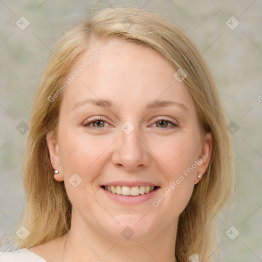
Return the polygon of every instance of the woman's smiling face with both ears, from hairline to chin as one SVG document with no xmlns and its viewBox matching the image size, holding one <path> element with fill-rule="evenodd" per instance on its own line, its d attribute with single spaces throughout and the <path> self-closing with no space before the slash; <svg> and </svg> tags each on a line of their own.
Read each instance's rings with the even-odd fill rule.
<svg viewBox="0 0 262 262">
<path fill-rule="evenodd" d="M 176 230 L 208 166 L 211 135 L 201 142 L 193 99 L 175 72 L 156 51 L 118 38 L 76 62 L 57 140 L 48 136 L 72 228 L 117 239 Z"/>
</svg>

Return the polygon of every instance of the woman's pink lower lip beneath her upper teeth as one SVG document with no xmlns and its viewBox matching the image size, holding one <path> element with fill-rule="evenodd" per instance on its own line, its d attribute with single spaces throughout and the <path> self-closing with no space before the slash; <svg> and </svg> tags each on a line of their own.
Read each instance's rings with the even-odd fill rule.
<svg viewBox="0 0 262 262">
<path fill-rule="evenodd" d="M 154 197 L 154 195 L 157 193 L 157 191 L 160 189 L 160 187 L 158 187 L 157 189 L 149 192 L 149 193 L 144 193 L 144 194 L 140 194 L 137 196 L 132 196 L 132 195 L 121 195 L 121 194 L 113 194 L 107 190 L 105 190 L 103 187 L 101 187 L 101 189 L 104 191 L 104 193 L 111 199 L 113 199 L 114 201 L 121 203 L 121 204 L 126 204 L 126 205 L 136 205 L 136 204 L 140 204 L 143 203 L 149 199 L 151 199 L 152 197 Z"/>
</svg>

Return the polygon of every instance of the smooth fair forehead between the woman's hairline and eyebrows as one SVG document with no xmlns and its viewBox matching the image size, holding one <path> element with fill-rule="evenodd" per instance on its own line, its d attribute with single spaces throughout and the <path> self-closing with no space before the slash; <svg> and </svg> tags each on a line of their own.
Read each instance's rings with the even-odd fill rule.
<svg viewBox="0 0 262 262">
<path fill-rule="evenodd" d="M 155 50 L 132 41 L 112 38 L 97 43 L 76 61 L 69 77 L 76 72 L 63 94 L 62 103 L 70 108 L 93 98 L 129 108 L 170 98 L 193 106 L 187 88 L 173 77 L 176 70 Z"/>
</svg>

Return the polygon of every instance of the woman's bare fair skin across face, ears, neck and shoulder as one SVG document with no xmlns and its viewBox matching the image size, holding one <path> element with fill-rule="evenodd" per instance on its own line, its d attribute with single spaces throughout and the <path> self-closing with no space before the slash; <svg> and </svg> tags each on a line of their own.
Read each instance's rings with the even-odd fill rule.
<svg viewBox="0 0 262 262">
<path fill-rule="evenodd" d="M 176 72 L 156 51 L 118 38 L 85 52 L 72 68 L 101 50 L 84 72 L 63 92 L 57 138 L 47 142 L 57 181 L 64 181 L 73 205 L 69 238 L 56 239 L 30 251 L 47 261 L 176 261 L 174 249 L 179 214 L 186 207 L 198 173 L 204 174 L 211 153 L 211 134 L 204 142 L 192 97 Z M 85 99 L 108 99 L 109 109 L 85 103 Z M 184 104 L 145 110 L 149 101 L 172 100 Z M 105 118 L 83 126 L 91 117 Z M 156 117 L 173 120 L 179 126 Z M 134 130 L 126 135 L 121 126 L 129 121 Z M 164 120 L 163 120 L 164 121 Z M 100 127 L 101 126 L 101 127 Z M 99 129 L 100 128 L 100 129 Z M 206 156 L 189 176 L 159 204 L 152 205 L 191 167 Z M 69 182 L 77 173 L 82 182 Z M 150 181 L 160 186 L 153 199 L 137 205 L 114 202 L 100 186 L 115 180 Z M 125 239 L 121 231 L 134 231 Z"/>
</svg>

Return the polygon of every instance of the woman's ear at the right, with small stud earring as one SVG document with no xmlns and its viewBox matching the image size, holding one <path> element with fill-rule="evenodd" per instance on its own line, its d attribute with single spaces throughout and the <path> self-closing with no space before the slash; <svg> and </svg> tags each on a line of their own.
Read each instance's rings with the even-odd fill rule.
<svg viewBox="0 0 262 262">
<path fill-rule="evenodd" d="M 197 168 L 197 173 L 195 173 L 195 178 L 194 178 L 194 183 L 198 184 L 199 181 L 202 179 L 202 177 L 204 176 L 204 173 L 207 170 L 209 161 L 210 161 L 210 157 L 211 157 L 211 152 L 212 152 L 212 133 L 206 133 L 205 134 L 205 140 L 204 143 L 202 145 L 202 152 L 201 152 L 201 156 L 199 158 L 199 165 Z M 202 160 L 202 161 L 200 161 Z M 198 178 L 198 174 L 201 174 L 200 179 Z"/>
</svg>

